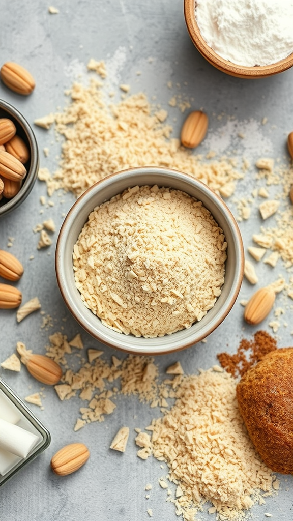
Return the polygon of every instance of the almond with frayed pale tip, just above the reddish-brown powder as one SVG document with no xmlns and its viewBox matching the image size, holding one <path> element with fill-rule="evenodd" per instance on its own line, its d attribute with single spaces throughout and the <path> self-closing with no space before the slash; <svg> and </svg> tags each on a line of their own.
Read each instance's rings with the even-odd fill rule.
<svg viewBox="0 0 293 521">
<path fill-rule="evenodd" d="M 260 288 L 255 292 L 245 306 L 244 319 L 248 324 L 260 324 L 270 313 L 274 302 L 275 292 L 272 288 Z"/>
</svg>

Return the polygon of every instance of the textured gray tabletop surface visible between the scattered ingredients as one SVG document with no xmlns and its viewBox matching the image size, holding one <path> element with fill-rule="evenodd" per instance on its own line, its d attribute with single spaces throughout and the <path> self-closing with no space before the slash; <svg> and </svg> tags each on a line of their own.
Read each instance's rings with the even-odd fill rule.
<svg viewBox="0 0 293 521">
<path fill-rule="evenodd" d="M 108 82 L 118 91 L 119 83 L 129 83 L 131 92 L 143 90 L 156 96 L 162 107 L 168 107 L 173 93 L 193 97 L 192 108 L 203 107 L 210 116 L 209 133 L 199 152 L 206 152 L 217 144 L 218 152 L 226 154 L 234 151 L 242 153 L 253 161 L 260 156 L 280 157 L 288 162 L 286 152 L 287 133 L 293 130 L 293 69 L 282 75 L 263 80 L 236 79 L 224 75 L 207 64 L 193 47 L 184 21 L 181 0 L 64 0 L 56 2 L 58 15 L 48 14 L 49 2 L 43 0 L 1 0 L 1 64 L 7 60 L 26 66 L 36 80 L 36 88 L 29 97 L 21 97 L 0 86 L 0 96 L 18 108 L 30 123 L 56 111 L 66 103 L 64 90 L 69 88 L 78 74 L 85 73 L 85 65 L 90 58 L 105 60 L 109 66 Z M 152 57 L 153 60 L 149 60 Z M 141 76 L 136 72 L 140 70 Z M 175 85 L 171 92 L 167 82 Z M 180 89 L 176 88 L 180 84 Z M 176 90 L 177 89 L 177 90 Z M 174 135 L 178 134 L 185 117 L 175 109 L 170 116 L 177 117 Z M 223 113 L 222 119 L 217 116 Z M 235 117 L 237 123 L 228 122 L 228 116 Z M 262 119 L 267 124 L 262 126 Z M 249 129 L 255 123 L 255 139 L 243 150 L 245 143 L 237 140 L 241 128 Z M 173 120 L 172 120 L 173 123 Z M 242 126 L 242 127 L 241 127 Z M 35 128 L 39 143 L 41 166 L 52 171 L 57 167 L 60 143 L 55 143 L 54 131 Z M 222 137 L 221 137 L 222 136 Z M 216 137 L 216 138 L 215 138 Z M 216 141 L 215 141 L 216 139 Z M 244 141 L 244 140 L 243 140 Z M 50 148 L 50 156 L 45 158 L 43 148 Z M 242 147 L 242 148 L 241 148 Z M 247 173 L 246 180 L 239 182 L 238 196 L 248 196 L 254 187 L 254 175 Z M 278 190 L 278 187 L 271 189 Z M 61 330 L 68 339 L 81 332 L 86 348 L 102 348 L 86 333 L 80 331 L 76 322 L 62 301 L 56 285 L 54 271 L 54 244 L 48 250 L 37 251 L 38 235 L 32 229 L 46 218 L 52 217 L 57 228 L 63 216 L 74 202 L 70 194 L 64 197 L 54 195 L 55 206 L 45 208 L 40 215 L 39 197 L 46 197 L 44 183 L 36 182 L 35 187 L 19 209 L 1 219 L 0 247 L 6 249 L 8 238 L 14 238 L 9 251 L 21 258 L 25 265 L 19 288 L 23 301 L 38 296 L 45 314 L 53 317 L 54 325 L 41 328 L 42 319 L 34 314 L 17 325 L 14 311 L 1 311 L 0 358 L 9 356 L 21 340 L 34 352 L 44 352 L 48 335 Z M 233 211 L 233 201 L 228 201 Z M 236 210 L 235 210 L 236 211 Z M 251 234 L 260 226 L 258 213 L 240 224 L 245 246 L 251 245 Z M 34 260 L 29 257 L 34 255 Z M 273 281 L 282 272 L 279 267 L 272 272 L 263 265 L 258 268 L 260 285 Z M 244 281 L 239 299 L 251 294 L 249 284 Z M 278 332 L 279 347 L 291 344 L 291 313 L 289 309 L 282 318 L 289 323 Z M 64 321 L 65 319 L 65 321 Z M 268 319 L 262 328 L 271 332 Z M 242 322 L 242 308 L 236 303 L 225 322 L 214 332 L 206 343 L 179 353 L 157 358 L 161 374 L 164 369 L 180 360 L 188 373 L 196 373 L 199 367 L 208 368 L 216 362 L 216 353 L 227 349 L 237 350 L 242 336 L 251 338 L 258 328 L 251 328 Z M 104 349 L 105 357 L 111 358 L 114 351 Z M 116 353 L 117 354 L 117 353 Z M 121 356 L 118 353 L 118 356 Z M 41 386 L 23 368 L 20 374 L 1 369 L 1 376 L 22 397 L 37 392 Z M 153 519 L 170 521 L 177 519 L 174 506 L 165 501 L 166 493 L 157 479 L 166 475 L 160 462 L 149 458 L 143 462 L 136 456 L 133 428 L 145 427 L 159 411 L 150 410 L 137 399 L 119 398 L 113 415 L 104 423 L 94 423 L 74 433 L 80 402 L 78 398 L 60 402 L 54 389 L 46 387 L 43 399 L 44 410 L 31 406 L 35 414 L 51 431 L 52 443 L 37 460 L 22 470 L 0 490 L 0 518 L 2 521 L 78 521 L 84 519 L 148 519 L 147 508 L 152 508 Z M 127 452 L 124 455 L 109 450 L 117 429 L 128 425 L 131 429 Z M 91 458 L 86 466 L 65 479 L 58 478 L 50 470 L 50 460 L 54 452 L 63 444 L 72 441 L 86 443 Z M 281 488 L 276 498 L 268 498 L 262 508 L 254 507 L 254 518 L 265 519 L 264 513 L 273 519 L 287 521 L 292 517 L 292 477 L 279 476 Z M 144 498 L 144 486 L 153 483 L 150 499 Z M 200 519 L 214 516 L 200 514 Z"/>
</svg>

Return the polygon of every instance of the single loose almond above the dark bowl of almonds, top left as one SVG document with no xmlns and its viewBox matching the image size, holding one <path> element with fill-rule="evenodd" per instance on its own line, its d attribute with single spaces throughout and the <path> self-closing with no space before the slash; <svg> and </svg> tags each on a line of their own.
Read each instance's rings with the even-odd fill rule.
<svg viewBox="0 0 293 521">
<path fill-rule="evenodd" d="M 27 96 L 34 87 L 35 81 L 27 69 L 14 61 L 7 61 L 0 69 L 3 83 L 12 91 Z"/>
</svg>

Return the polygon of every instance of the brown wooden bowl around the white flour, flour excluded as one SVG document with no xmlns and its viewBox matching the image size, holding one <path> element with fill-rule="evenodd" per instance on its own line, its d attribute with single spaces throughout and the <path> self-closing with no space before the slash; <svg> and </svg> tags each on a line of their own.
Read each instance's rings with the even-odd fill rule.
<svg viewBox="0 0 293 521">
<path fill-rule="evenodd" d="M 201 55 L 217 69 L 226 72 L 226 74 L 230 76 L 236 76 L 237 78 L 266 78 L 283 72 L 293 66 L 293 53 L 274 64 L 255 67 L 237 65 L 222 58 L 215 53 L 203 39 L 194 14 L 195 6 L 196 0 L 184 0 L 184 16 L 187 30 L 193 44 L 197 47 Z"/>
</svg>

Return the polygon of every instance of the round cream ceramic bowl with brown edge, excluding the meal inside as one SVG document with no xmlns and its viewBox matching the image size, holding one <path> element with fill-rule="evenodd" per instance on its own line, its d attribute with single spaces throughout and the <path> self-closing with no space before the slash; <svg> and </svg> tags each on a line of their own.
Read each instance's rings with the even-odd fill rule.
<svg viewBox="0 0 293 521">
<path fill-rule="evenodd" d="M 225 282 L 214 307 L 201 321 L 189 329 L 177 331 L 160 338 L 143 338 L 116 332 L 104 326 L 82 302 L 75 285 L 72 252 L 83 225 L 91 211 L 114 195 L 136 185 L 169 187 L 195 197 L 210 210 L 223 229 L 227 241 Z M 243 277 L 243 245 L 233 214 L 224 201 L 206 184 L 193 177 L 167 168 L 141 167 L 115 173 L 95 183 L 69 210 L 60 229 L 55 256 L 56 276 L 63 299 L 79 324 L 96 340 L 128 353 L 165 354 L 185 349 L 207 337 L 221 324 L 235 303 Z"/>
</svg>

